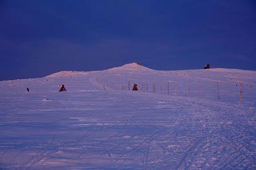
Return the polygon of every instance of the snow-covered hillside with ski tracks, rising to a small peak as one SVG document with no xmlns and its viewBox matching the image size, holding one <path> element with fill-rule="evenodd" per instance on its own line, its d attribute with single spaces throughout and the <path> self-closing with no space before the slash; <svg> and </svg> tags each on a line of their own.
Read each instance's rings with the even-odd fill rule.
<svg viewBox="0 0 256 170">
<path fill-rule="evenodd" d="M 0 169 L 255 169 L 255 77 L 134 62 L 1 81 Z"/>
</svg>

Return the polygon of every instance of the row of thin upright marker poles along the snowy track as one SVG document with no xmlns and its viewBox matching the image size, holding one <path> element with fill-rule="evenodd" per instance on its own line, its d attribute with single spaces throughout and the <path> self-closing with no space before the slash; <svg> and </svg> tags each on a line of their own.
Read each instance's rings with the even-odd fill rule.
<svg viewBox="0 0 256 170">
<path fill-rule="evenodd" d="M 169 91 L 169 81 L 167 82 L 167 95 L 170 94 L 170 91 Z M 122 86 L 122 90 L 125 90 L 124 88 L 125 86 Z M 202 99 L 202 84 L 200 83 L 199 84 L 199 89 L 200 89 L 200 98 Z M 146 85 L 145 84 L 142 84 L 142 88 L 141 88 L 142 91 L 147 91 L 148 92 L 148 86 L 147 86 L 147 83 Z M 178 86 L 176 85 L 176 88 L 175 88 L 175 91 L 178 90 Z M 130 82 L 128 82 L 128 91 L 130 91 Z M 153 85 L 152 85 L 152 92 L 153 93 L 156 93 L 156 84 L 155 82 L 153 82 Z M 160 93 L 162 93 L 162 83 L 160 84 Z M 219 90 L 219 82 L 217 81 L 217 93 L 218 93 L 218 100 L 220 102 L 220 90 Z M 176 94 L 176 93 L 175 93 Z M 187 93 L 186 93 L 186 97 L 189 96 L 189 83 L 187 83 Z M 242 103 L 242 82 L 240 82 L 240 103 Z"/>
</svg>

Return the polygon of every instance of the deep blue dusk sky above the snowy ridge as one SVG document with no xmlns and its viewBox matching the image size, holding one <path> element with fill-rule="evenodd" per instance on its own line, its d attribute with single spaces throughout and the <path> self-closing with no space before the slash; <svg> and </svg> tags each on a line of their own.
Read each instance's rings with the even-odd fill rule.
<svg viewBox="0 0 256 170">
<path fill-rule="evenodd" d="M 130 62 L 256 70 L 254 0 L 0 0 L 0 80 Z"/>
</svg>

